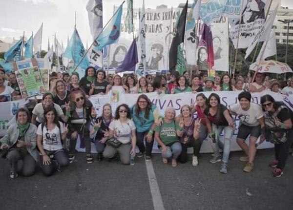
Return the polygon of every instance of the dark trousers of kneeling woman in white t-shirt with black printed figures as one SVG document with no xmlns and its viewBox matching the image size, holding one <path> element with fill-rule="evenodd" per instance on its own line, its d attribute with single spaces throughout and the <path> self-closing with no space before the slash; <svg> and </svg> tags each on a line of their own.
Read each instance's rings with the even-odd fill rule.
<svg viewBox="0 0 293 210">
<path fill-rule="evenodd" d="M 46 153 L 50 153 L 50 152 L 46 152 Z M 51 154 L 53 154 L 53 157 L 56 160 L 58 166 L 60 166 L 60 167 L 68 166 L 69 160 L 68 160 L 63 149 L 53 151 L 53 153 L 51 153 Z M 49 156 L 51 156 L 51 155 L 49 155 Z M 54 168 L 55 168 L 54 164 L 52 163 L 52 160 L 49 165 L 43 165 L 43 156 L 41 155 L 40 157 L 41 157 L 41 159 L 40 159 L 41 169 L 42 169 L 43 174 L 45 176 L 51 176 L 53 174 Z"/>
</svg>

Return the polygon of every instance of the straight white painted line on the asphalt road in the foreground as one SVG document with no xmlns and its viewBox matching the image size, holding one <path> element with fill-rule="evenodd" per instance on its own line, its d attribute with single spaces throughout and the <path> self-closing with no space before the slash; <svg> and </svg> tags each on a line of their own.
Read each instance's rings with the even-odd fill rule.
<svg viewBox="0 0 293 210">
<path fill-rule="evenodd" d="M 146 171 L 154 210 L 165 210 L 152 161 L 146 161 Z"/>
</svg>

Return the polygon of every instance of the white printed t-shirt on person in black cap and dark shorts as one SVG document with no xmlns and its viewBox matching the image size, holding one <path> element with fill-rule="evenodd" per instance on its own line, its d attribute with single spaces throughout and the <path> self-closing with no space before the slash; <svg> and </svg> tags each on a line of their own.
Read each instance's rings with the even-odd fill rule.
<svg viewBox="0 0 293 210">
<path fill-rule="evenodd" d="M 235 112 L 238 115 L 239 120 L 246 126 L 258 126 L 258 120 L 264 116 L 261 107 L 253 103 L 251 103 L 248 110 L 243 110 L 239 103 L 230 106 L 230 110 Z"/>
</svg>

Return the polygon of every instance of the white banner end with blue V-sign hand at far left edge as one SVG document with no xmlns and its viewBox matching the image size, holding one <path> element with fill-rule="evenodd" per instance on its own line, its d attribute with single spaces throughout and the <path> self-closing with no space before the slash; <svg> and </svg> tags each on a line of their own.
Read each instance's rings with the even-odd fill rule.
<svg viewBox="0 0 293 210">
<path fill-rule="evenodd" d="M 4 136 L 8 126 L 15 122 L 15 114 L 17 110 L 28 103 L 27 100 L 21 99 L 17 101 L 1 102 L 0 114 L 0 136 Z"/>
</svg>

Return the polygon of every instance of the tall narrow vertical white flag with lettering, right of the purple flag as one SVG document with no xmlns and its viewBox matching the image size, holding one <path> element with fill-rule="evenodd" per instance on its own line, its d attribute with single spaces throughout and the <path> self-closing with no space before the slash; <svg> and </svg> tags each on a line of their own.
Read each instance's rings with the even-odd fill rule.
<svg viewBox="0 0 293 210">
<path fill-rule="evenodd" d="M 138 64 L 138 73 L 146 75 L 146 10 L 145 10 L 145 0 L 143 0 L 143 7 L 141 11 L 140 21 L 139 21 L 139 40 L 140 40 L 140 62 Z"/>
</svg>

